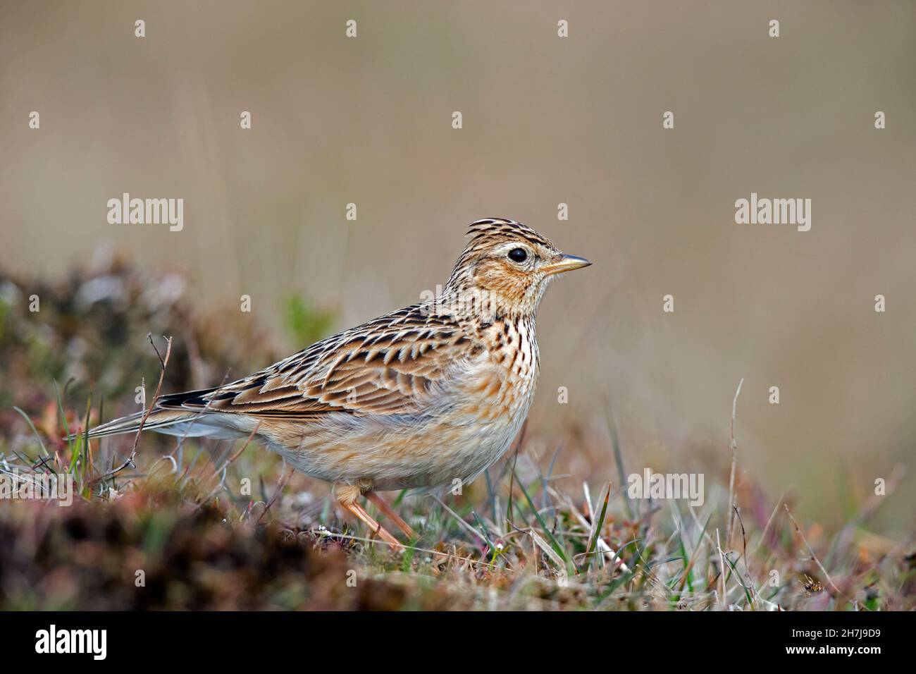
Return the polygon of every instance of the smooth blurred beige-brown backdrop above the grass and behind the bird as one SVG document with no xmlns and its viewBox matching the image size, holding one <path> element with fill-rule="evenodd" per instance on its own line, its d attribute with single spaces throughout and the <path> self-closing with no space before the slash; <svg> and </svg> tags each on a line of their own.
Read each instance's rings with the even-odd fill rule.
<svg viewBox="0 0 916 674">
<path fill-rule="evenodd" d="M 594 261 L 539 317 L 530 441 L 547 459 L 562 443 L 570 480 L 616 479 L 609 425 L 627 472 L 727 479 L 742 377 L 740 475 L 804 515 L 843 521 L 914 457 L 912 2 L 0 7 L 5 274 L 115 256 L 231 315 L 224 341 L 255 332 L 282 356 L 311 337 L 285 313 L 317 314 L 317 338 L 417 302 L 468 223 L 505 216 Z M 109 224 L 125 192 L 183 198 L 182 231 Z M 811 231 L 736 225 L 752 192 L 812 199 Z M 170 327 L 152 316 L 118 338 L 148 348 Z M 237 348 L 234 374 L 261 358 Z M 910 470 L 882 510 L 889 532 L 911 530 L 914 486 Z"/>
</svg>

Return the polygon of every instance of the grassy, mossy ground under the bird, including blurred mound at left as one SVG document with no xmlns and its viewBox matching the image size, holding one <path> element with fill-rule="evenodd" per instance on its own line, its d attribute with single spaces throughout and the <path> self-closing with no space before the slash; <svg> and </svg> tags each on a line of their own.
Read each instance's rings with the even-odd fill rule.
<svg viewBox="0 0 916 674">
<path fill-rule="evenodd" d="M 109 273 L 127 288 L 136 281 L 127 268 Z M 609 412 L 611 483 L 558 474 L 562 444 L 538 456 L 532 447 L 546 445 L 531 440 L 547 438 L 532 434 L 545 432 L 523 431 L 507 458 L 462 494 L 397 495 L 395 507 L 420 533 L 404 553 L 344 519 L 327 485 L 254 443 L 145 434 L 134 456 L 133 436 L 87 442 L 86 429 L 107 410 L 136 411 L 129 402 L 136 370 L 157 381 L 160 364 L 148 343 L 142 353 L 138 344 L 120 353 L 122 370 L 109 370 L 116 351 L 96 361 L 103 372 L 121 372 L 104 386 L 114 402 L 79 381 L 57 387 L 72 364 L 57 367 L 35 354 L 54 352 L 67 329 L 90 343 L 111 329 L 89 318 L 73 325 L 80 316 L 66 307 L 79 285 L 49 289 L 40 320 L 17 314 L 21 304 L 0 311 L 0 345 L 12 357 L 5 385 L 18 387 L 0 394 L 26 404 L 0 416 L 0 477 L 21 483 L 63 474 L 74 492 L 71 507 L 0 501 L 0 539 L 16 541 L 0 548 L 0 609 L 916 608 L 913 539 L 893 541 L 869 528 L 882 500 L 851 503 L 851 516 L 834 531 L 799 521 L 790 496 L 770 499 L 741 473 L 734 436 L 728 448 L 738 470 L 724 451 L 723 465 L 707 470 L 705 503 L 692 507 L 627 496 Z M 135 334 L 151 319 L 138 299 L 126 302 L 101 310 Z M 296 330 L 328 320 L 312 320 L 306 307 L 296 303 Z M 213 348 L 208 359 L 233 360 L 207 335 L 207 319 L 180 304 L 158 321 L 188 322 L 183 333 Z M 43 337 L 39 323 L 49 327 Z M 189 386 L 198 367 L 199 349 L 180 341 L 188 340 L 176 337 L 171 359 L 163 358 L 169 390 Z M 71 440 L 60 439 L 71 432 Z"/>
</svg>

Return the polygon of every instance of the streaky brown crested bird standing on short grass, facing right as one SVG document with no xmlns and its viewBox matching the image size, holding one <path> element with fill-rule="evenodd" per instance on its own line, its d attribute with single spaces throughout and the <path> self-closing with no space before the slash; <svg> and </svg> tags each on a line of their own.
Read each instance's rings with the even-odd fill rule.
<svg viewBox="0 0 916 674">
<path fill-rule="evenodd" d="M 538 382 L 541 298 L 559 275 L 591 264 L 506 218 L 477 220 L 466 237 L 437 296 L 242 379 L 160 395 L 151 410 L 88 436 L 252 437 L 294 469 L 330 482 L 344 510 L 403 549 L 360 496 L 416 540 L 376 492 L 467 484 L 507 452 Z"/>
</svg>

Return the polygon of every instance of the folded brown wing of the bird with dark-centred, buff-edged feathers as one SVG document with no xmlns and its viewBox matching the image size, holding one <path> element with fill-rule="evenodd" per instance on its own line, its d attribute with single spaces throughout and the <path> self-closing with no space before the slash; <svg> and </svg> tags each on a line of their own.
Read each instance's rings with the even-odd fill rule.
<svg viewBox="0 0 916 674">
<path fill-rule="evenodd" d="M 293 419 L 417 414 L 481 350 L 451 316 L 424 307 L 376 318 L 224 386 L 162 396 L 159 406 Z"/>
</svg>

